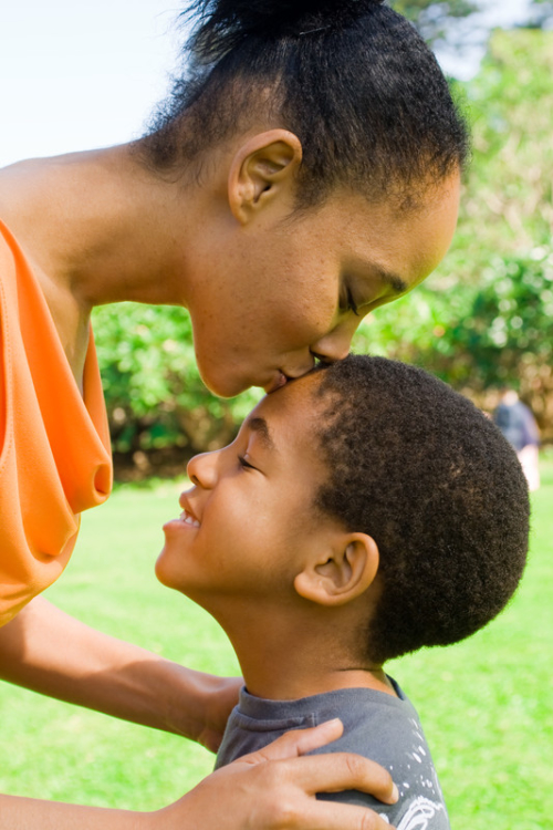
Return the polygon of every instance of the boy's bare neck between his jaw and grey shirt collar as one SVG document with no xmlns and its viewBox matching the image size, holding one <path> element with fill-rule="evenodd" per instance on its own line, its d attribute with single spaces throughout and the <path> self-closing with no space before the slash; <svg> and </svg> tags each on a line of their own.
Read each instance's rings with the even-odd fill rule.
<svg viewBox="0 0 553 830">
<path fill-rule="evenodd" d="M 337 631 L 351 631 L 344 619 L 328 631 L 322 614 L 305 619 L 282 614 L 274 609 L 264 619 L 223 625 L 232 642 L 248 692 L 272 701 L 334 692 L 340 688 L 372 688 L 396 693 L 382 666 L 349 655 Z M 301 616 L 301 615 L 300 615 Z M 309 618 L 309 619 L 307 619 Z"/>
</svg>

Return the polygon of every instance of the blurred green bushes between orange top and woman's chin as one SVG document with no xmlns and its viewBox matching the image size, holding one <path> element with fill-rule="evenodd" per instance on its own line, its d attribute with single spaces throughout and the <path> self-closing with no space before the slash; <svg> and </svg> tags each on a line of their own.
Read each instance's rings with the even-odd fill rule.
<svg viewBox="0 0 553 830">
<path fill-rule="evenodd" d="M 115 452 L 219 447 L 260 397 L 255 390 L 231 401 L 208 392 L 184 309 L 104 305 L 94 311 L 94 331 Z"/>
</svg>

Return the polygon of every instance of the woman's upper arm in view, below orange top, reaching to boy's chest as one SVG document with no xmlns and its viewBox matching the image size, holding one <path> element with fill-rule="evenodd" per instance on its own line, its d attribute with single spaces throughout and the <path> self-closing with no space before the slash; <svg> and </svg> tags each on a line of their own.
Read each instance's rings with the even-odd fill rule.
<svg viewBox="0 0 553 830">
<path fill-rule="evenodd" d="M 0 678 L 212 750 L 241 686 L 102 634 L 42 596 L 0 627 Z"/>
</svg>

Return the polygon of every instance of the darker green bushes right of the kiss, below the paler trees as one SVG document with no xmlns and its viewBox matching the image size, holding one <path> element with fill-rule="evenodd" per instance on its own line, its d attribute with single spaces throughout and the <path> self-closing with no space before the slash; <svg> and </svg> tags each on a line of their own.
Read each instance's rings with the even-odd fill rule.
<svg viewBox="0 0 553 830">
<path fill-rule="evenodd" d="M 416 363 L 491 409 L 511 386 L 553 439 L 553 249 L 490 259 L 463 290 L 417 289 L 372 315 L 355 350 Z"/>
</svg>

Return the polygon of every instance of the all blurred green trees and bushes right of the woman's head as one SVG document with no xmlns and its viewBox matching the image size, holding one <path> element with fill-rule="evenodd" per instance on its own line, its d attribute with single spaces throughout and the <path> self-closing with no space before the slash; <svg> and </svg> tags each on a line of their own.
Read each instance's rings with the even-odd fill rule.
<svg viewBox="0 0 553 830">
<path fill-rule="evenodd" d="M 446 261 L 362 325 L 357 351 L 435 372 L 479 405 L 511 385 L 553 439 L 553 33 L 493 33 L 457 92 L 473 158 Z"/>
</svg>

